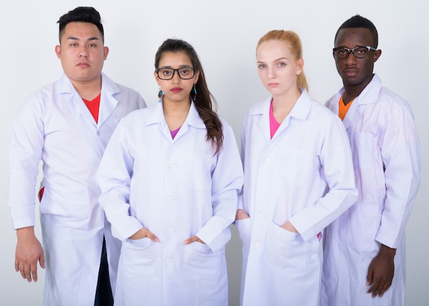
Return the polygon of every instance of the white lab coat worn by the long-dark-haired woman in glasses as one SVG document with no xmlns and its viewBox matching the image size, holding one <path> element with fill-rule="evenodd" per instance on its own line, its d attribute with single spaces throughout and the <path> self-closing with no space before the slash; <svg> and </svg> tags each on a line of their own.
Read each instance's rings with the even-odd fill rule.
<svg viewBox="0 0 429 306">
<path fill-rule="evenodd" d="M 174 139 L 162 103 L 126 116 L 97 179 L 100 203 L 123 240 L 116 305 L 228 305 L 225 244 L 243 185 L 238 146 L 224 120 L 214 155 L 191 103 Z M 145 227 L 149 238 L 128 239 Z M 184 240 L 197 235 L 206 244 Z"/>
</svg>

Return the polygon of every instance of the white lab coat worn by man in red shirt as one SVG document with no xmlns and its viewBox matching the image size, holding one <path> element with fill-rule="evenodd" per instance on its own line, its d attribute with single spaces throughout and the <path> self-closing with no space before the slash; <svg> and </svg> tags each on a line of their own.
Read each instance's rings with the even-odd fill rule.
<svg viewBox="0 0 429 306">
<path fill-rule="evenodd" d="M 98 124 L 65 75 L 29 96 L 14 121 L 8 199 L 14 229 L 35 225 L 34 190 L 43 161 L 44 305 L 94 305 L 103 234 L 113 290 L 116 283 L 121 242 L 99 206 L 95 175 L 119 120 L 145 102 L 104 74 L 101 82 Z"/>
</svg>

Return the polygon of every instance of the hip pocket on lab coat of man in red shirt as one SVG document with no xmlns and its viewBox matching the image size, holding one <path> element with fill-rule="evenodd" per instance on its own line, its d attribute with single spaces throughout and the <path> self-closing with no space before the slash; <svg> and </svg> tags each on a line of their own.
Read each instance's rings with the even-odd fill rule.
<svg viewBox="0 0 429 306">
<path fill-rule="evenodd" d="M 40 201 L 44 222 L 60 222 L 74 228 L 87 228 L 91 218 L 88 188 L 52 188 L 45 186 Z"/>
</svg>

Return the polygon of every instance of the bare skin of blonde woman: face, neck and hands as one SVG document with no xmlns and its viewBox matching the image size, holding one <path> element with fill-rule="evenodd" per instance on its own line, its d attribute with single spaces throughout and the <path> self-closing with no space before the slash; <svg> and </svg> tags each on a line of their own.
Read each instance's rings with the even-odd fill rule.
<svg viewBox="0 0 429 306">
<path fill-rule="evenodd" d="M 273 95 L 274 118 L 281 123 L 301 95 L 297 76 L 302 73 L 304 60 L 295 58 L 285 42 L 268 40 L 256 49 L 256 62 L 262 84 Z M 236 220 L 245 218 L 249 218 L 249 214 L 238 209 Z M 298 232 L 289 221 L 281 227 L 287 231 Z"/>
</svg>

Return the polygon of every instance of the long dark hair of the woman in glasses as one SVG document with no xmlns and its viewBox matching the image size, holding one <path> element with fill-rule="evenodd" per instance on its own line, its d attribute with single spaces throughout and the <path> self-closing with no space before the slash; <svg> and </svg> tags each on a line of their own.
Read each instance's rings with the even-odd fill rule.
<svg viewBox="0 0 429 306">
<path fill-rule="evenodd" d="M 199 77 L 195 88 L 197 89 L 197 99 L 194 101 L 195 108 L 199 114 L 201 120 L 203 120 L 204 125 L 207 129 L 207 140 L 212 143 L 213 149 L 215 149 L 215 155 L 221 151 L 223 146 L 223 132 L 222 132 L 222 123 L 219 119 L 219 116 L 216 114 L 217 102 L 215 97 L 210 93 L 206 83 L 206 77 L 204 76 L 203 67 L 199 61 L 197 52 L 195 49 L 184 40 L 180 39 L 167 39 L 165 40 L 155 55 L 155 68 L 159 68 L 159 63 L 162 58 L 162 55 L 166 52 L 184 52 L 188 55 L 189 60 L 191 60 L 192 66 L 195 68 L 195 71 L 199 71 Z M 194 98 L 195 94 L 192 90 L 191 98 Z M 215 106 L 215 110 L 213 110 Z"/>
</svg>

